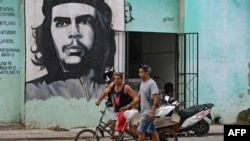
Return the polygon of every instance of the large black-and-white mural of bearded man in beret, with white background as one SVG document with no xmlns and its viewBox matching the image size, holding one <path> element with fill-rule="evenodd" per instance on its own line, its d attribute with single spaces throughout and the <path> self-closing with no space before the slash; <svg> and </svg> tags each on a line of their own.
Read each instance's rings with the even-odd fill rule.
<svg viewBox="0 0 250 141">
<path fill-rule="evenodd" d="M 99 96 L 105 88 L 103 74 L 114 69 L 116 53 L 114 15 L 107 3 L 116 4 L 25 1 L 26 101 Z"/>
</svg>

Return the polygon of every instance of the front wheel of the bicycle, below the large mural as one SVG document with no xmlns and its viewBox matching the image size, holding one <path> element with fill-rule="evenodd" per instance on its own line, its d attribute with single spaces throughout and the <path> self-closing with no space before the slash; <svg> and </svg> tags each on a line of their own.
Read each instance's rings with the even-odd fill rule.
<svg viewBox="0 0 250 141">
<path fill-rule="evenodd" d="M 83 129 L 76 134 L 75 141 L 99 141 L 99 137 L 95 131 Z"/>
</svg>

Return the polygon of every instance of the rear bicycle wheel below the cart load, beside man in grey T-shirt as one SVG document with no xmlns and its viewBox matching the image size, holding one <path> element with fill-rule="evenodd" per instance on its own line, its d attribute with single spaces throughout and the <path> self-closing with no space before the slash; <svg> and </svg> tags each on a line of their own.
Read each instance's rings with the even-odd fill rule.
<svg viewBox="0 0 250 141">
<path fill-rule="evenodd" d="M 174 130 L 170 128 L 164 128 L 157 131 L 160 137 L 160 141 L 178 141 L 178 137 Z"/>
</svg>

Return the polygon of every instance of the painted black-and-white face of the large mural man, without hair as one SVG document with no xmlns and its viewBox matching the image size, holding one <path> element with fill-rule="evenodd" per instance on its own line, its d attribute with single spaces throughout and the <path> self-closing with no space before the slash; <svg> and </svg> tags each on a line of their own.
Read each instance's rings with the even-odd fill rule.
<svg viewBox="0 0 250 141">
<path fill-rule="evenodd" d="M 51 33 L 57 57 L 63 64 L 78 64 L 93 47 L 94 7 L 80 3 L 64 3 L 53 7 Z"/>
</svg>

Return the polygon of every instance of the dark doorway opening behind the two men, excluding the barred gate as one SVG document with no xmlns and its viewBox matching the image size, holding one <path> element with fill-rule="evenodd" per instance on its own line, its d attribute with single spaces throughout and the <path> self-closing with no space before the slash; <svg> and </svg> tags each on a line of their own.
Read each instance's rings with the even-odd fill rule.
<svg viewBox="0 0 250 141">
<path fill-rule="evenodd" d="M 157 82 L 159 89 L 167 82 L 175 84 L 176 41 L 177 36 L 172 33 L 127 32 L 127 81 L 138 85 L 138 67 L 140 64 L 148 64 L 152 67 L 151 77 Z"/>
</svg>

